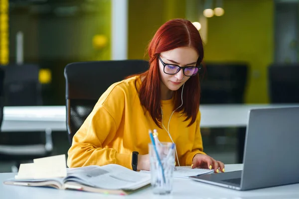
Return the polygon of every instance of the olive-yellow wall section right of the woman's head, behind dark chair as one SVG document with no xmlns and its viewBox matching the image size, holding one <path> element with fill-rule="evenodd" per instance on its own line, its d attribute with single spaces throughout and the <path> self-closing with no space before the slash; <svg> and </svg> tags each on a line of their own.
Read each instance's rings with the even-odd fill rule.
<svg viewBox="0 0 299 199">
<path fill-rule="evenodd" d="M 208 19 L 205 61 L 250 65 L 247 103 L 267 103 L 267 67 L 274 54 L 273 0 L 225 0 L 225 14 Z"/>
</svg>

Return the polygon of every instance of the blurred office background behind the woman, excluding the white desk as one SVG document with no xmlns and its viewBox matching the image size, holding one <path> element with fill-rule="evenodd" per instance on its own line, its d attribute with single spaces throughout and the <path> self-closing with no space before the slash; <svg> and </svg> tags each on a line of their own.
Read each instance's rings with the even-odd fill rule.
<svg viewBox="0 0 299 199">
<path fill-rule="evenodd" d="M 37 100 L 30 96 L 39 94 L 25 85 L 10 86 L 6 94 L 24 91 L 21 98 L 4 97 L 4 106 L 65 105 L 68 63 L 147 60 L 154 32 L 173 18 L 194 22 L 204 40 L 202 104 L 298 103 L 299 75 L 284 73 L 299 67 L 298 4 L 299 0 L 0 0 L 1 68 L 23 67 L 13 78 L 34 76 L 40 91 Z M 32 65 L 37 70 L 31 71 Z M 278 71 L 270 73 L 271 67 Z M 272 73 L 293 87 L 276 87 L 286 93 L 272 90 Z M 205 152 L 226 164 L 236 163 L 238 130 L 202 128 Z M 11 136 L 17 143 L 30 142 L 39 136 L 30 133 L 0 132 L 0 142 Z M 66 132 L 53 131 L 51 139 L 53 148 L 45 156 L 67 154 Z M 0 172 L 10 172 L 15 161 L 0 155 Z"/>
</svg>

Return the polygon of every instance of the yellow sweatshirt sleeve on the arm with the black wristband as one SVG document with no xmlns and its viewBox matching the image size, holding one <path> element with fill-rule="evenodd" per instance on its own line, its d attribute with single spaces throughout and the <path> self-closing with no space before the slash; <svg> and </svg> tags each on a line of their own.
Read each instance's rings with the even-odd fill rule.
<svg viewBox="0 0 299 199">
<path fill-rule="evenodd" d="M 117 95 L 103 94 L 102 99 L 100 98 L 74 135 L 72 146 L 68 151 L 68 167 L 118 164 L 132 169 L 132 154 L 118 153 L 115 149 L 107 147 L 115 139 L 121 119 L 115 119 L 104 104 L 113 106 L 113 111 L 119 110 L 120 115 L 124 110 L 124 98 L 121 92 L 114 91 L 114 93 Z M 105 102 L 107 100 L 109 103 Z"/>
</svg>

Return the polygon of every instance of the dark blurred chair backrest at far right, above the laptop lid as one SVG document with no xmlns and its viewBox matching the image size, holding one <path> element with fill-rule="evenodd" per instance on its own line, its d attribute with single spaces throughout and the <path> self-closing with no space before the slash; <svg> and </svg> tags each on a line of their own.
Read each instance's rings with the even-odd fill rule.
<svg viewBox="0 0 299 199">
<path fill-rule="evenodd" d="M 273 64 L 268 72 L 271 103 L 299 103 L 299 64 Z"/>
</svg>

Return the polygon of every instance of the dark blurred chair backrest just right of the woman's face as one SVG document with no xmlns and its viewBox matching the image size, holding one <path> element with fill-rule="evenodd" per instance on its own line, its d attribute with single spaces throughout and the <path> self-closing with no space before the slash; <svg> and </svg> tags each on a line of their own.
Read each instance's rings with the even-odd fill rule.
<svg viewBox="0 0 299 199">
<path fill-rule="evenodd" d="M 206 63 L 201 79 L 200 103 L 244 103 L 248 65 Z"/>
</svg>

